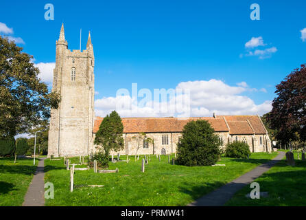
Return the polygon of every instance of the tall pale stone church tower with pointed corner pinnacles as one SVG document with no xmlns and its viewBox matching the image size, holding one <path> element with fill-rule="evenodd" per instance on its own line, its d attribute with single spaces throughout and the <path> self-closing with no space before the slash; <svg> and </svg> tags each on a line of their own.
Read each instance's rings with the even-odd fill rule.
<svg viewBox="0 0 306 220">
<path fill-rule="evenodd" d="M 93 151 L 95 57 L 91 34 L 86 50 L 69 50 L 64 25 L 56 41 L 56 67 L 52 91 L 61 102 L 51 109 L 48 157 L 89 155 Z"/>
</svg>

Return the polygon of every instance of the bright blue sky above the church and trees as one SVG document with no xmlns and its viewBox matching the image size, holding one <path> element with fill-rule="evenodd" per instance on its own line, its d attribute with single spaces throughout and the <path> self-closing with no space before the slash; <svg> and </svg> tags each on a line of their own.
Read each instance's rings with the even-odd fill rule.
<svg viewBox="0 0 306 220">
<path fill-rule="evenodd" d="M 46 3 L 54 5 L 54 21 L 44 19 Z M 252 3 L 260 5 L 260 21 L 250 19 Z M 71 50 L 80 47 L 80 28 L 85 49 L 90 30 L 95 51 L 95 90 L 99 93 L 95 99 L 102 115 L 106 109 L 101 104 L 115 97 L 120 88 L 130 90 L 132 83 L 153 90 L 176 88 L 188 81 L 205 84 L 209 80 L 243 87 L 231 98 L 243 96 L 242 102 L 252 100 L 252 106 L 258 108 L 226 111 L 216 105 L 209 107 L 210 101 L 205 100 L 198 109 L 208 109 L 207 114 L 262 114 L 268 107 L 259 106 L 273 100 L 275 85 L 306 63 L 306 41 L 301 39 L 301 30 L 306 28 L 305 6 L 300 0 L 2 0 L 0 22 L 12 32 L 0 34 L 21 38 L 23 43 L 19 45 L 34 56 L 35 63 L 54 63 L 62 22 Z M 246 47 L 252 38 L 259 43 Z"/>
</svg>

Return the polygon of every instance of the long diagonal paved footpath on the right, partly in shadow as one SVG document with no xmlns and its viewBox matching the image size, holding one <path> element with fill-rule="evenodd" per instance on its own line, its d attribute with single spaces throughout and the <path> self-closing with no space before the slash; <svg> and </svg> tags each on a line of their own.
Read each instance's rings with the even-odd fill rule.
<svg viewBox="0 0 306 220">
<path fill-rule="evenodd" d="M 266 164 L 261 164 L 257 166 L 257 168 L 251 170 L 250 172 L 242 175 L 241 177 L 231 181 L 230 183 L 218 188 L 217 190 L 204 195 L 200 199 L 193 201 L 187 206 L 224 206 L 226 201 L 231 199 L 233 195 L 243 188 L 247 186 L 252 181 L 260 177 L 263 173 L 268 171 L 272 166 L 274 166 L 277 162 L 281 161 L 285 157 L 285 152 L 280 152 L 279 155 L 271 159 Z"/>
</svg>

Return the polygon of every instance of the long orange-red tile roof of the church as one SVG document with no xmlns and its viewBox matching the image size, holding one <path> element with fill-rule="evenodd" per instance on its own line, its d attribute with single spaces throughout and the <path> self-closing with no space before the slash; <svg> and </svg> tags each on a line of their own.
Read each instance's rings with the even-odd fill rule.
<svg viewBox="0 0 306 220">
<path fill-rule="evenodd" d="M 102 120 L 103 118 L 96 118 L 93 133 L 97 133 Z M 191 120 L 207 120 L 215 131 L 229 131 L 232 135 L 266 133 L 257 115 L 217 115 L 216 118 L 121 118 L 121 120 L 123 133 L 182 132 L 185 124 Z"/>
</svg>

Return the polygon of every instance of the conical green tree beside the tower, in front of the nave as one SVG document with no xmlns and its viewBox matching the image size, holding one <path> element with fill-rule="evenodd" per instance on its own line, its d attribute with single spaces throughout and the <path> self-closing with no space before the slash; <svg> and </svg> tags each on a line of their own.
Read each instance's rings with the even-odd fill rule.
<svg viewBox="0 0 306 220">
<path fill-rule="evenodd" d="M 95 135 L 94 144 L 102 146 L 106 155 L 110 151 L 120 151 L 124 148 L 123 124 L 116 111 L 106 115 Z M 100 149 L 101 150 L 101 149 Z"/>
</svg>

